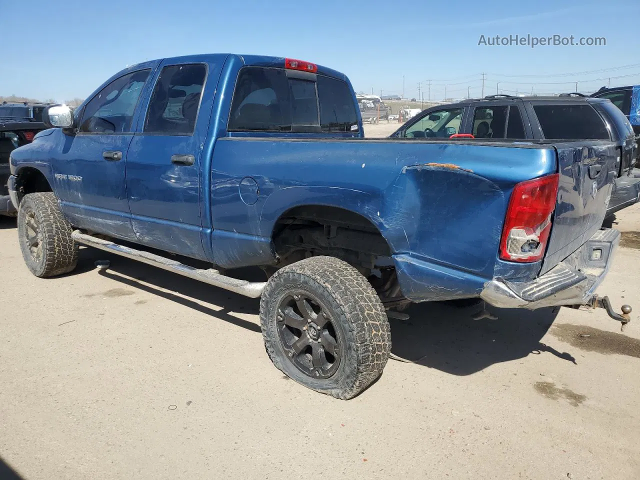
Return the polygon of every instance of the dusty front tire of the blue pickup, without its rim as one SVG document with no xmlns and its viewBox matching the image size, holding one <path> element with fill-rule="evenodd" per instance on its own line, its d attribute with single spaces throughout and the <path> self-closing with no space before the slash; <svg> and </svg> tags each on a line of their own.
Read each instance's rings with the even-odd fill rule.
<svg viewBox="0 0 640 480">
<path fill-rule="evenodd" d="M 20 250 L 31 273 L 45 278 L 73 271 L 77 265 L 79 248 L 71 237 L 73 228 L 60 211 L 54 193 L 29 193 L 22 198 L 18 212 L 19 234 L 20 226 L 24 223 L 26 207 L 31 207 L 40 216 L 44 241 L 44 262 L 38 265 L 31 259 L 26 241 L 20 236 Z"/>
</svg>

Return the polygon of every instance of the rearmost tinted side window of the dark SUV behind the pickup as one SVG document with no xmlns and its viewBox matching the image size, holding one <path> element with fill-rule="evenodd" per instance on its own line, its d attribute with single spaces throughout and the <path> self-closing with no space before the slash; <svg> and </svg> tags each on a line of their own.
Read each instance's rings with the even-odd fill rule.
<svg viewBox="0 0 640 480">
<path fill-rule="evenodd" d="M 590 105 L 534 105 L 542 134 L 554 140 L 609 140 L 604 120 Z"/>
</svg>

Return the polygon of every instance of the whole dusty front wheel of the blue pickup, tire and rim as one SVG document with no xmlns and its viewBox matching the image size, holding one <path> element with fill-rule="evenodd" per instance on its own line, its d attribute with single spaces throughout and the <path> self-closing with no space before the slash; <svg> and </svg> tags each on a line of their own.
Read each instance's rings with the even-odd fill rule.
<svg viewBox="0 0 640 480">
<path fill-rule="evenodd" d="M 18 209 L 18 241 L 22 258 L 40 278 L 69 273 L 78 261 L 72 227 L 52 192 L 29 193 Z"/>
</svg>

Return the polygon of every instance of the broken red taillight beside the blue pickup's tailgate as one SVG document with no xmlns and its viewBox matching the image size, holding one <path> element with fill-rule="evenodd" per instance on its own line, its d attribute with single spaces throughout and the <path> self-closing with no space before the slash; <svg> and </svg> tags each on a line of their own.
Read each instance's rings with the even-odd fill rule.
<svg viewBox="0 0 640 480">
<path fill-rule="evenodd" d="M 517 184 L 511 193 L 500 241 L 500 258 L 536 262 L 545 254 L 551 214 L 556 209 L 559 175 Z"/>
</svg>

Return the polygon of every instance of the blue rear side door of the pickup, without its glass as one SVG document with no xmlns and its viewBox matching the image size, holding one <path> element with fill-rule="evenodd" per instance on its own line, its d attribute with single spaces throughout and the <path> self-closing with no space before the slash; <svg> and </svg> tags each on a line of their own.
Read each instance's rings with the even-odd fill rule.
<svg viewBox="0 0 640 480">
<path fill-rule="evenodd" d="M 198 57 L 163 61 L 152 84 L 164 67 L 193 63 L 203 62 Z M 210 260 L 202 243 L 203 228 L 208 225 L 208 221 L 203 223 L 200 214 L 202 148 L 207 141 L 222 62 L 206 62 L 206 66 L 205 86 L 192 135 L 145 134 L 145 116 L 153 88 L 140 102 L 142 111 L 127 155 L 127 195 L 137 241 L 168 252 Z M 175 155 L 192 155 L 194 162 L 174 164 L 172 156 Z"/>
</svg>

